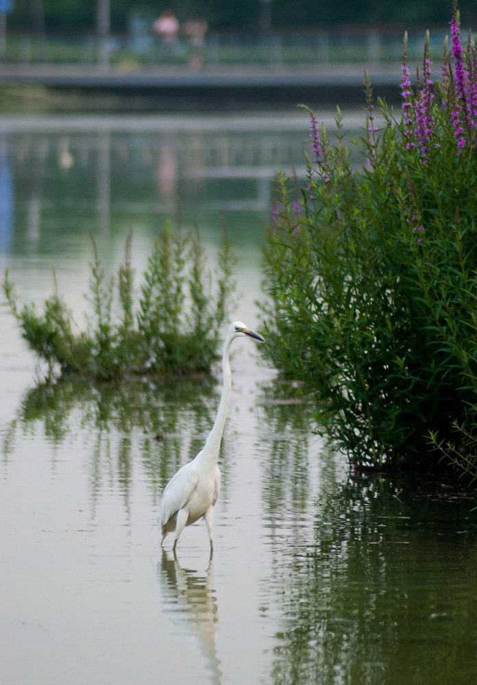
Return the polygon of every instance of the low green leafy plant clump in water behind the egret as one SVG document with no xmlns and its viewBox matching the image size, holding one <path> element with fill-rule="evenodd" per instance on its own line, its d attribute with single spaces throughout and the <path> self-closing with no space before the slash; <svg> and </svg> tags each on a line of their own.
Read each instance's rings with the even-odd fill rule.
<svg viewBox="0 0 477 685">
<path fill-rule="evenodd" d="M 224 239 L 219 250 L 214 285 L 198 234 L 173 232 L 168 224 L 154 242 L 137 301 L 131 242 L 130 236 L 117 279 L 107 280 L 93 240 L 86 332 L 77 332 L 58 292 L 45 300 L 42 313 L 34 304 L 19 308 L 7 271 L 3 290 L 23 338 L 63 374 L 115 378 L 210 371 L 234 288 L 230 242 Z"/>
</svg>

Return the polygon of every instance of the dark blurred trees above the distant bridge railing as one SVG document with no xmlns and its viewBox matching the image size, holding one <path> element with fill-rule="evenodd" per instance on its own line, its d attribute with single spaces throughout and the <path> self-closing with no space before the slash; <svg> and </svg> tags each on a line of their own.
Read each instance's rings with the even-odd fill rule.
<svg viewBox="0 0 477 685">
<path fill-rule="evenodd" d="M 460 0 L 463 27 L 477 26 L 477 3 Z M 211 29 L 317 29 L 336 25 L 446 25 L 452 0 L 110 0 L 112 32 L 127 32 L 134 17 L 152 21 L 173 10 L 180 21 L 204 18 Z M 17 31 L 94 32 L 97 0 L 14 0 L 8 26 Z"/>
</svg>

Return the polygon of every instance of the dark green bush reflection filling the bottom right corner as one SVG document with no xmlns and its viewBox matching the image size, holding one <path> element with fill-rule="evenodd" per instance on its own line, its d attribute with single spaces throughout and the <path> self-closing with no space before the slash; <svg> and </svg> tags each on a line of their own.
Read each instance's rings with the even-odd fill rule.
<svg viewBox="0 0 477 685">
<path fill-rule="evenodd" d="M 282 606 L 276 685 L 472 680 L 475 531 L 469 501 L 443 492 L 397 499 L 363 480 L 322 495 L 314 539 L 284 544 L 267 580 Z"/>
</svg>

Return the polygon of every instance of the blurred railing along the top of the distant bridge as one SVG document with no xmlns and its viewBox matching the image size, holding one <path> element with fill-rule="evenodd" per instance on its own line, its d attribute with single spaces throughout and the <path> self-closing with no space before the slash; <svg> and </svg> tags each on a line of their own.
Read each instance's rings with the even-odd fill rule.
<svg viewBox="0 0 477 685">
<path fill-rule="evenodd" d="M 463 36 L 466 36 L 463 32 Z M 430 57 L 440 64 L 443 32 L 432 32 Z M 402 54 L 400 32 L 344 30 L 293 33 L 219 34 L 210 32 L 201 46 L 193 46 L 185 36 L 174 45 L 163 45 L 149 32 L 111 36 L 99 42 L 93 35 L 44 36 L 30 34 L 6 36 L 0 50 L 3 64 L 99 64 L 140 69 L 143 66 L 175 64 L 193 66 L 293 66 L 295 64 L 396 63 Z M 410 32 L 408 60 L 420 62 L 425 32 Z"/>
</svg>

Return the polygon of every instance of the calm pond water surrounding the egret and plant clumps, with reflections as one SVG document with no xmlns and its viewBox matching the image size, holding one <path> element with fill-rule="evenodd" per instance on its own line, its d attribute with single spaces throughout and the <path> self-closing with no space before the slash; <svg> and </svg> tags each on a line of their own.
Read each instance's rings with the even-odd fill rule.
<svg viewBox="0 0 477 685">
<path fill-rule="evenodd" d="M 194 121 L 193 133 L 190 118 L 0 119 L 0 267 L 26 301 L 51 292 L 54 267 L 81 323 L 88 234 L 114 269 L 132 226 L 140 271 L 180 195 L 212 264 L 225 216 L 233 316 L 258 325 L 260 220 L 273 169 L 301 173 L 307 122 Z M 477 682 L 473 497 L 350 475 L 239 340 L 215 557 L 199 523 L 176 562 L 159 545 L 160 493 L 204 443 L 217 384 L 45 386 L 11 317 L 0 322 L 5 683 Z"/>
</svg>

